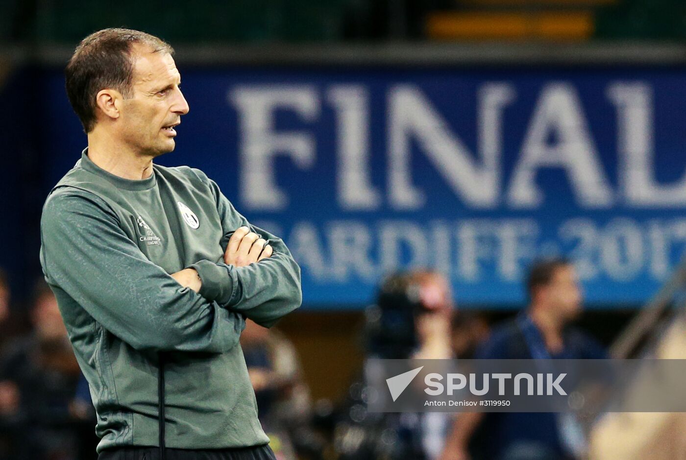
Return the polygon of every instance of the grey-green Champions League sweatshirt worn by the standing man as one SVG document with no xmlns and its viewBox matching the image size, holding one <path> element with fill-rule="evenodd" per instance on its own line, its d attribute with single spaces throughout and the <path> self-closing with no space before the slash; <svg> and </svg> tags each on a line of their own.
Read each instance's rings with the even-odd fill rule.
<svg viewBox="0 0 686 460">
<path fill-rule="evenodd" d="M 97 452 L 158 446 L 159 356 L 167 447 L 266 444 L 238 339 L 245 317 L 272 326 L 298 308 L 300 269 L 281 239 L 255 227 L 274 254 L 225 265 L 245 217 L 202 171 L 153 170 L 119 178 L 86 149 L 40 221 L 40 263 L 91 389 Z M 187 267 L 200 293 L 169 276 Z"/>
</svg>

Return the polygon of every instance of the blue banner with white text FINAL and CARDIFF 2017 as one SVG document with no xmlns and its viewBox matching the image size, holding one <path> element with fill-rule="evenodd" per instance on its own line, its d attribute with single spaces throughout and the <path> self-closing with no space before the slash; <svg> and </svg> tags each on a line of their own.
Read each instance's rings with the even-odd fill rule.
<svg viewBox="0 0 686 460">
<path fill-rule="evenodd" d="M 686 242 L 686 73 L 184 69 L 176 151 L 283 236 L 305 304 L 371 302 L 398 267 L 460 304 L 525 302 L 526 267 L 573 258 L 586 302 L 646 301 Z M 47 75 L 49 183 L 86 137 Z"/>
</svg>

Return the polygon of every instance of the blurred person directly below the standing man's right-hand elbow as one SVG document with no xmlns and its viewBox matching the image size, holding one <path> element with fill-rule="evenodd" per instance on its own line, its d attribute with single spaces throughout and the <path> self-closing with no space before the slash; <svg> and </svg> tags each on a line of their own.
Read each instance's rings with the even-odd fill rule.
<svg viewBox="0 0 686 460">
<path fill-rule="evenodd" d="M 293 344 L 279 330 L 250 320 L 241 347 L 255 389 L 259 421 L 276 459 L 320 459 L 322 441 L 311 431 L 312 404 Z"/>
</svg>

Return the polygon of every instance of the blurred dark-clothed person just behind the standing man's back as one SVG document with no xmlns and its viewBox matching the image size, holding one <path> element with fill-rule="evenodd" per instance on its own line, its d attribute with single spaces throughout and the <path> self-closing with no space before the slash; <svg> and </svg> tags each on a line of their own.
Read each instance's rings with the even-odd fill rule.
<svg viewBox="0 0 686 460">
<path fill-rule="evenodd" d="M 45 281 L 32 298 L 33 330 L 16 338 L 0 363 L 0 418 L 10 435 L 4 458 L 76 459 L 82 442 L 71 404 L 81 373 Z M 92 422 L 88 428 L 92 433 Z"/>
</svg>

